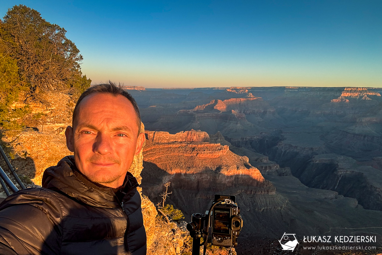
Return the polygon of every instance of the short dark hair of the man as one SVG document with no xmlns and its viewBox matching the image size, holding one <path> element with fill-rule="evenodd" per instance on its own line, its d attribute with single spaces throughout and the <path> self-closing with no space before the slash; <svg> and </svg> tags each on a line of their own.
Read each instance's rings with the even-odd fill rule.
<svg viewBox="0 0 382 255">
<path fill-rule="evenodd" d="M 74 111 L 73 111 L 73 119 L 72 119 L 73 128 L 74 128 L 74 121 L 75 121 L 75 119 L 78 115 L 78 111 L 79 111 L 79 103 L 86 96 L 89 96 L 89 95 L 95 94 L 95 93 L 109 93 L 109 94 L 112 94 L 113 96 L 121 95 L 121 96 L 126 97 L 134 107 L 134 111 L 135 111 L 135 115 L 136 115 L 136 119 L 137 119 L 137 125 L 138 125 L 138 135 L 140 133 L 142 133 L 142 130 L 141 130 L 141 114 L 139 113 L 139 107 L 138 107 L 137 102 L 131 96 L 130 93 L 126 92 L 126 90 L 122 88 L 121 83 L 119 83 L 117 85 L 117 84 L 113 83 L 112 81 L 109 81 L 108 83 L 100 83 L 100 84 L 93 85 L 90 88 L 86 89 L 81 94 L 81 96 L 79 96 L 77 104 L 74 107 Z"/>
</svg>

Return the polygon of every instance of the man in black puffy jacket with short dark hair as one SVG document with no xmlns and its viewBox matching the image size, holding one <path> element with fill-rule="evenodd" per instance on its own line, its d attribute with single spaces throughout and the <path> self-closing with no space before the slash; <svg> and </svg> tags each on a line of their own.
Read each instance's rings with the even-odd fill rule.
<svg viewBox="0 0 382 255">
<path fill-rule="evenodd" d="M 144 143 L 129 93 L 87 89 L 65 131 L 74 156 L 45 170 L 42 188 L 0 205 L 0 254 L 146 254 L 141 198 L 128 172 Z"/>
</svg>

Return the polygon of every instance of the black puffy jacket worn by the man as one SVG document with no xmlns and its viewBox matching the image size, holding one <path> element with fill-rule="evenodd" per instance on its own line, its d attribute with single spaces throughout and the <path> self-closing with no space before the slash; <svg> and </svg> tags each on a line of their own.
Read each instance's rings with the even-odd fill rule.
<svg viewBox="0 0 382 255">
<path fill-rule="evenodd" d="M 129 172 L 118 199 L 67 156 L 45 170 L 42 186 L 1 203 L 0 254 L 146 254 L 141 197 Z"/>
</svg>

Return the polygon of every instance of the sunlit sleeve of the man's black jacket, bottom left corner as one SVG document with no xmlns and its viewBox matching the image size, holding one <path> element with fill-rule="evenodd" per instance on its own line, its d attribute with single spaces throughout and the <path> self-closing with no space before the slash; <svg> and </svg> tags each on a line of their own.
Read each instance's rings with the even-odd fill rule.
<svg viewBox="0 0 382 255">
<path fill-rule="evenodd" d="M 44 211 L 32 205 L 12 205 L 0 211 L 1 254 L 58 254 L 60 232 Z"/>
</svg>

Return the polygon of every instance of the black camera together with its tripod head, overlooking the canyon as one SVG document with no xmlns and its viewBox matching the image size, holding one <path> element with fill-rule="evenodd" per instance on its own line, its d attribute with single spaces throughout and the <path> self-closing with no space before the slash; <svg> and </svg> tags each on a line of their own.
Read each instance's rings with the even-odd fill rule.
<svg viewBox="0 0 382 255">
<path fill-rule="evenodd" d="M 232 248 L 237 246 L 237 238 L 243 227 L 240 207 L 236 197 L 230 195 L 215 195 L 210 210 L 206 215 L 194 213 L 192 221 L 187 224 L 187 230 L 193 238 L 193 255 L 199 255 L 200 246 L 204 245 L 206 254 L 207 240 L 212 245 Z M 211 238 L 208 238 L 209 230 Z M 200 244 L 201 237 L 204 242 Z"/>
</svg>

